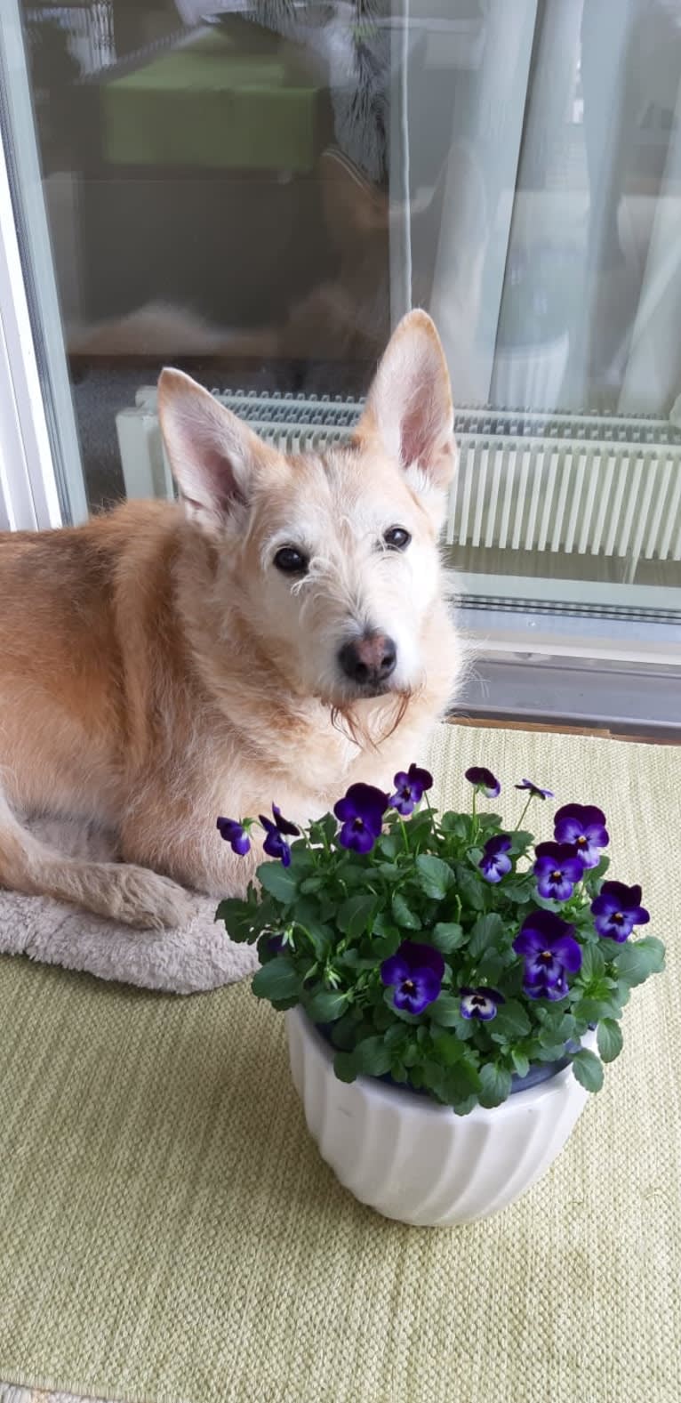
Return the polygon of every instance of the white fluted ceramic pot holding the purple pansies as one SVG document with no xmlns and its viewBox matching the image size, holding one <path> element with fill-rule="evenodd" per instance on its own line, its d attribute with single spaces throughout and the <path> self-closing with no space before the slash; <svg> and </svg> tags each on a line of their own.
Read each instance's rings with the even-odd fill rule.
<svg viewBox="0 0 681 1403">
<path fill-rule="evenodd" d="M 339 1082 L 333 1052 L 301 1009 L 286 1014 L 289 1055 L 322 1159 L 363 1204 L 419 1228 L 488 1218 L 520 1198 L 562 1150 L 589 1092 L 566 1066 L 503 1106 L 454 1115 L 376 1078 Z M 596 1047 L 596 1034 L 583 1040 Z"/>
</svg>

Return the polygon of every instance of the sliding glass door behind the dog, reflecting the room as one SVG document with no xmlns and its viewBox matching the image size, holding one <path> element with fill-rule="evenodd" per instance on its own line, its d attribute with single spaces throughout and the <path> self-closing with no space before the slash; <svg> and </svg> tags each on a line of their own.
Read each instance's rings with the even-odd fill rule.
<svg viewBox="0 0 681 1403">
<path fill-rule="evenodd" d="M 172 492 L 163 363 L 304 446 L 419 304 L 472 631 L 678 661 L 681 0 L 6 0 L 0 42 L 64 521 Z"/>
</svg>

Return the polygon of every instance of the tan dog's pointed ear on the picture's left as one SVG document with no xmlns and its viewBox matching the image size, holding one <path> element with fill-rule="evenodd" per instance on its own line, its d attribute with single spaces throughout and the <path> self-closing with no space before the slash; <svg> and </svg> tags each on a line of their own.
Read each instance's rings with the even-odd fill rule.
<svg viewBox="0 0 681 1403">
<path fill-rule="evenodd" d="M 186 515 L 214 532 L 248 504 L 270 450 L 182 370 L 161 370 L 158 418 Z"/>
</svg>

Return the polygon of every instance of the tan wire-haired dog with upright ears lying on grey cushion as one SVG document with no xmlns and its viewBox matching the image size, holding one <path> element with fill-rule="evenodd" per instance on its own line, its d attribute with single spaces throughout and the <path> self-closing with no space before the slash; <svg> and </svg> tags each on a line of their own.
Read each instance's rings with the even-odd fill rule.
<svg viewBox="0 0 681 1403">
<path fill-rule="evenodd" d="M 275 800 L 300 821 L 355 780 L 390 786 L 461 662 L 437 551 L 453 407 L 425 313 L 322 456 L 283 456 L 178 370 L 160 417 L 179 504 L 0 539 L 0 884 L 149 927 L 188 916 L 185 887 L 252 874 L 219 814 Z M 38 812 L 114 829 L 122 861 L 62 857 L 22 826 Z"/>
</svg>

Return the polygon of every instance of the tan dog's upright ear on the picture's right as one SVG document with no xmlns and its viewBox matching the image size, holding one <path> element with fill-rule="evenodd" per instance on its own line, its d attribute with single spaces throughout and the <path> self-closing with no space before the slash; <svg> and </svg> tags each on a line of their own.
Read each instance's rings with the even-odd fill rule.
<svg viewBox="0 0 681 1403">
<path fill-rule="evenodd" d="M 450 373 L 440 337 L 426 311 L 409 311 L 394 331 L 357 427 L 377 439 L 406 473 L 433 515 L 457 462 Z"/>
</svg>

